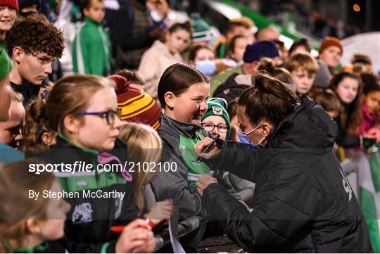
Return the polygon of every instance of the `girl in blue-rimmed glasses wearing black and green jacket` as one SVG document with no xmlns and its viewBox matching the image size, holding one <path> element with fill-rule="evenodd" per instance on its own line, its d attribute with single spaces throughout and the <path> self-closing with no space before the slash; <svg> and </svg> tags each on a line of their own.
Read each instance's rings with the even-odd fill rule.
<svg viewBox="0 0 380 254">
<path fill-rule="evenodd" d="M 42 110 L 40 119 L 58 132 L 56 144 L 42 158 L 58 169 L 63 190 L 76 195 L 66 197 L 72 208 L 65 234 L 72 252 L 147 253 L 155 246 L 142 220 L 128 224 L 137 218 L 137 208 L 129 169 L 119 167 L 128 157 L 118 139 L 114 85 L 92 75 L 65 77 L 54 84 Z M 110 231 L 125 224 L 119 237 Z"/>
</svg>

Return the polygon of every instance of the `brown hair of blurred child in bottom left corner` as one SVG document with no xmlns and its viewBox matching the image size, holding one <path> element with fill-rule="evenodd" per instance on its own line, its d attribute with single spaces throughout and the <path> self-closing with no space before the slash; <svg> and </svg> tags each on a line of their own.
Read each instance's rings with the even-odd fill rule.
<svg viewBox="0 0 380 254">
<path fill-rule="evenodd" d="M 13 248 L 20 248 L 23 239 L 29 233 L 25 220 L 33 217 L 37 220 L 46 219 L 46 208 L 50 198 L 29 198 L 29 191 L 51 189 L 54 175 L 50 172 L 34 174 L 30 172 L 31 163 L 41 163 L 38 160 L 24 160 L 0 165 L 0 238 L 15 243 Z M 1 163 L 0 163 L 1 164 Z M 0 252 L 6 252 L 0 241 Z"/>
</svg>

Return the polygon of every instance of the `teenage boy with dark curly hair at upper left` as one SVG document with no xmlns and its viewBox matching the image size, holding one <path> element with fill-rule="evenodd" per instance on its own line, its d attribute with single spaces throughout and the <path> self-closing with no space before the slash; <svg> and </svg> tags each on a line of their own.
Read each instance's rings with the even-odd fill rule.
<svg viewBox="0 0 380 254">
<path fill-rule="evenodd" d="M 39 94 L 51 63 L 62 56 L 63 33 L 42 14 L 32 13 L 16 22 L 7 37 L 12 58 L 11 86 L 23 95 L 24 104 Z"/>
</svg>

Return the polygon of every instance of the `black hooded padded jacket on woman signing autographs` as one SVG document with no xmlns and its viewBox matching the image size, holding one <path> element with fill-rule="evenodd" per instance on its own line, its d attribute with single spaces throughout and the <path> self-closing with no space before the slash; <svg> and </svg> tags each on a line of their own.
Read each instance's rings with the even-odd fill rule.
<svg viewBox="0 0 380 254">
<path fill-rule="evenodd" d="M 255 182 L 253 211 L 220 184 L 203 191 L 205 209 L 250 252 L 372 252 L 360 205 L 331 148 L 337 127 L 308 96 L 258 153 L 222 145 L 209 160 Z"/>
</svg>

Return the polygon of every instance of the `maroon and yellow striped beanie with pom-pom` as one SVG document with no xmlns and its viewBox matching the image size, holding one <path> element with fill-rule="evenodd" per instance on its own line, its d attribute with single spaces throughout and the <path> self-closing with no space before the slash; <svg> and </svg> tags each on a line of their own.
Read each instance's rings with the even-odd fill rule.
<svg viewBox="0 0 380 254">
<path fill-rule="evenodd" d="M 130 87 L 125 77 L 112 75 L 108 77 L 116 83 L 118 106 L 121 108 L 121 120 L 160 127 L 161 108 L 152 96 L 136 87 Z"/>
</svg>

